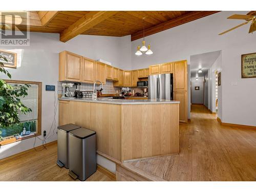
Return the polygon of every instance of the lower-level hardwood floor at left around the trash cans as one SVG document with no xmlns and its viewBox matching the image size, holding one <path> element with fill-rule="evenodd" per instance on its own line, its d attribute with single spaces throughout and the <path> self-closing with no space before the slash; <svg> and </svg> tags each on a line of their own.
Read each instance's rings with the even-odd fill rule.
<svg viewBox="0 0 256 192">
<path fill-rule="evenodd" d="M 0 163 L 0 181 L 74 181 L 68 174 L 69 170 L 60 168 L 56 160 L 57 143 L 47 146 L 47 150 L 31 151 Z M 86 181 L 113 181 L 113 179 L 97 170 Z"/>
</svg>

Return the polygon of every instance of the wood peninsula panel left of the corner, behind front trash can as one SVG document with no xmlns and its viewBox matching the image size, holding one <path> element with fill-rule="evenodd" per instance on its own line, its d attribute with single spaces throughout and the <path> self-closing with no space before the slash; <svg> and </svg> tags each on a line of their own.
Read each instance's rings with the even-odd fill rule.
<svg viewBox="0 0 256 192">
<path fill-rule="evenodd" d="M 91 103 L 90 129 L 97 132 L 97 150 L 121 160 L 120 105 Z"/>
</svg>

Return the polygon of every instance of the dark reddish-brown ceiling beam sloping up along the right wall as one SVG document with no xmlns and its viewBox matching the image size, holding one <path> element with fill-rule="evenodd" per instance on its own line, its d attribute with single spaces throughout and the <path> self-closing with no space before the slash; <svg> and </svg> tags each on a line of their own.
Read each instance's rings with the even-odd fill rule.
<svg viewBox="0 0 256 192">
<path fill-rule="evenodd" d="M 214 13 L 217 13 L 219 11 L 191 11 L 187 14 L 181 15 L 177 18 L 168 20 L 167 22 L 161 23 L 159 25 L 150 27 L 145 29 L 145 36 L 152 35 L 161 31 L 164 31 L 166 29 L 170 29 L 188 22 L 191 22 L 193 20 L 196 20 L 198 18 L 202 18 Z M 143 37 L 143 30 L 138 31 L 131 35 L 131 40 L 136 40 Z"/>
</svg>

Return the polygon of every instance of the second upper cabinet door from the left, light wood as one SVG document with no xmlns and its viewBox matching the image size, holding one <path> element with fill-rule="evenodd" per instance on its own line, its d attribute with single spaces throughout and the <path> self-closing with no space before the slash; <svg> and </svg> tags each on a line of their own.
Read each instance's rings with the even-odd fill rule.
<svg viewBox="0 0 256 192">
<path fill-rule="evenodd" d="M 82 82 L 94 83 L 95 81 L 95 60 L 82 58 Z"/>
</svg>

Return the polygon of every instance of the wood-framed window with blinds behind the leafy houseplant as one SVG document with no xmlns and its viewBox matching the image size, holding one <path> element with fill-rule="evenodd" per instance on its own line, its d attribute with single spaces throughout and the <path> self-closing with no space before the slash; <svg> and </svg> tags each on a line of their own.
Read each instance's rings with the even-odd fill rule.
<svg viewBox="0 0 256 192">
<path fill-rule="evenodd" d="M 19 124 L 12 125 L 10 127 L 0 127 L 2 131 L 2 137 L 4 142 L 1 144 L 8 144 L 15 142 L 16 140 L 22 140 L 36 135 L 41 135 L 41 82 L 33 81 L 16 81 L 16 80 L 5 80 L 11 86 L 15 87 L 17 84 L 30 84 L 31 87 L 28 88 L 28 95 L 25 97 L 20 97 L 20 100 L 32 110 L 28 114 L 19 114 Z M 20 136 L 24 128 L 26 131 L 30 131 L 31 134 Z M 19 135 L 20 138 L 15 139 L 14 136 Z M 8 140 L 10 142 L 8 142 Z"/>
</svg>

